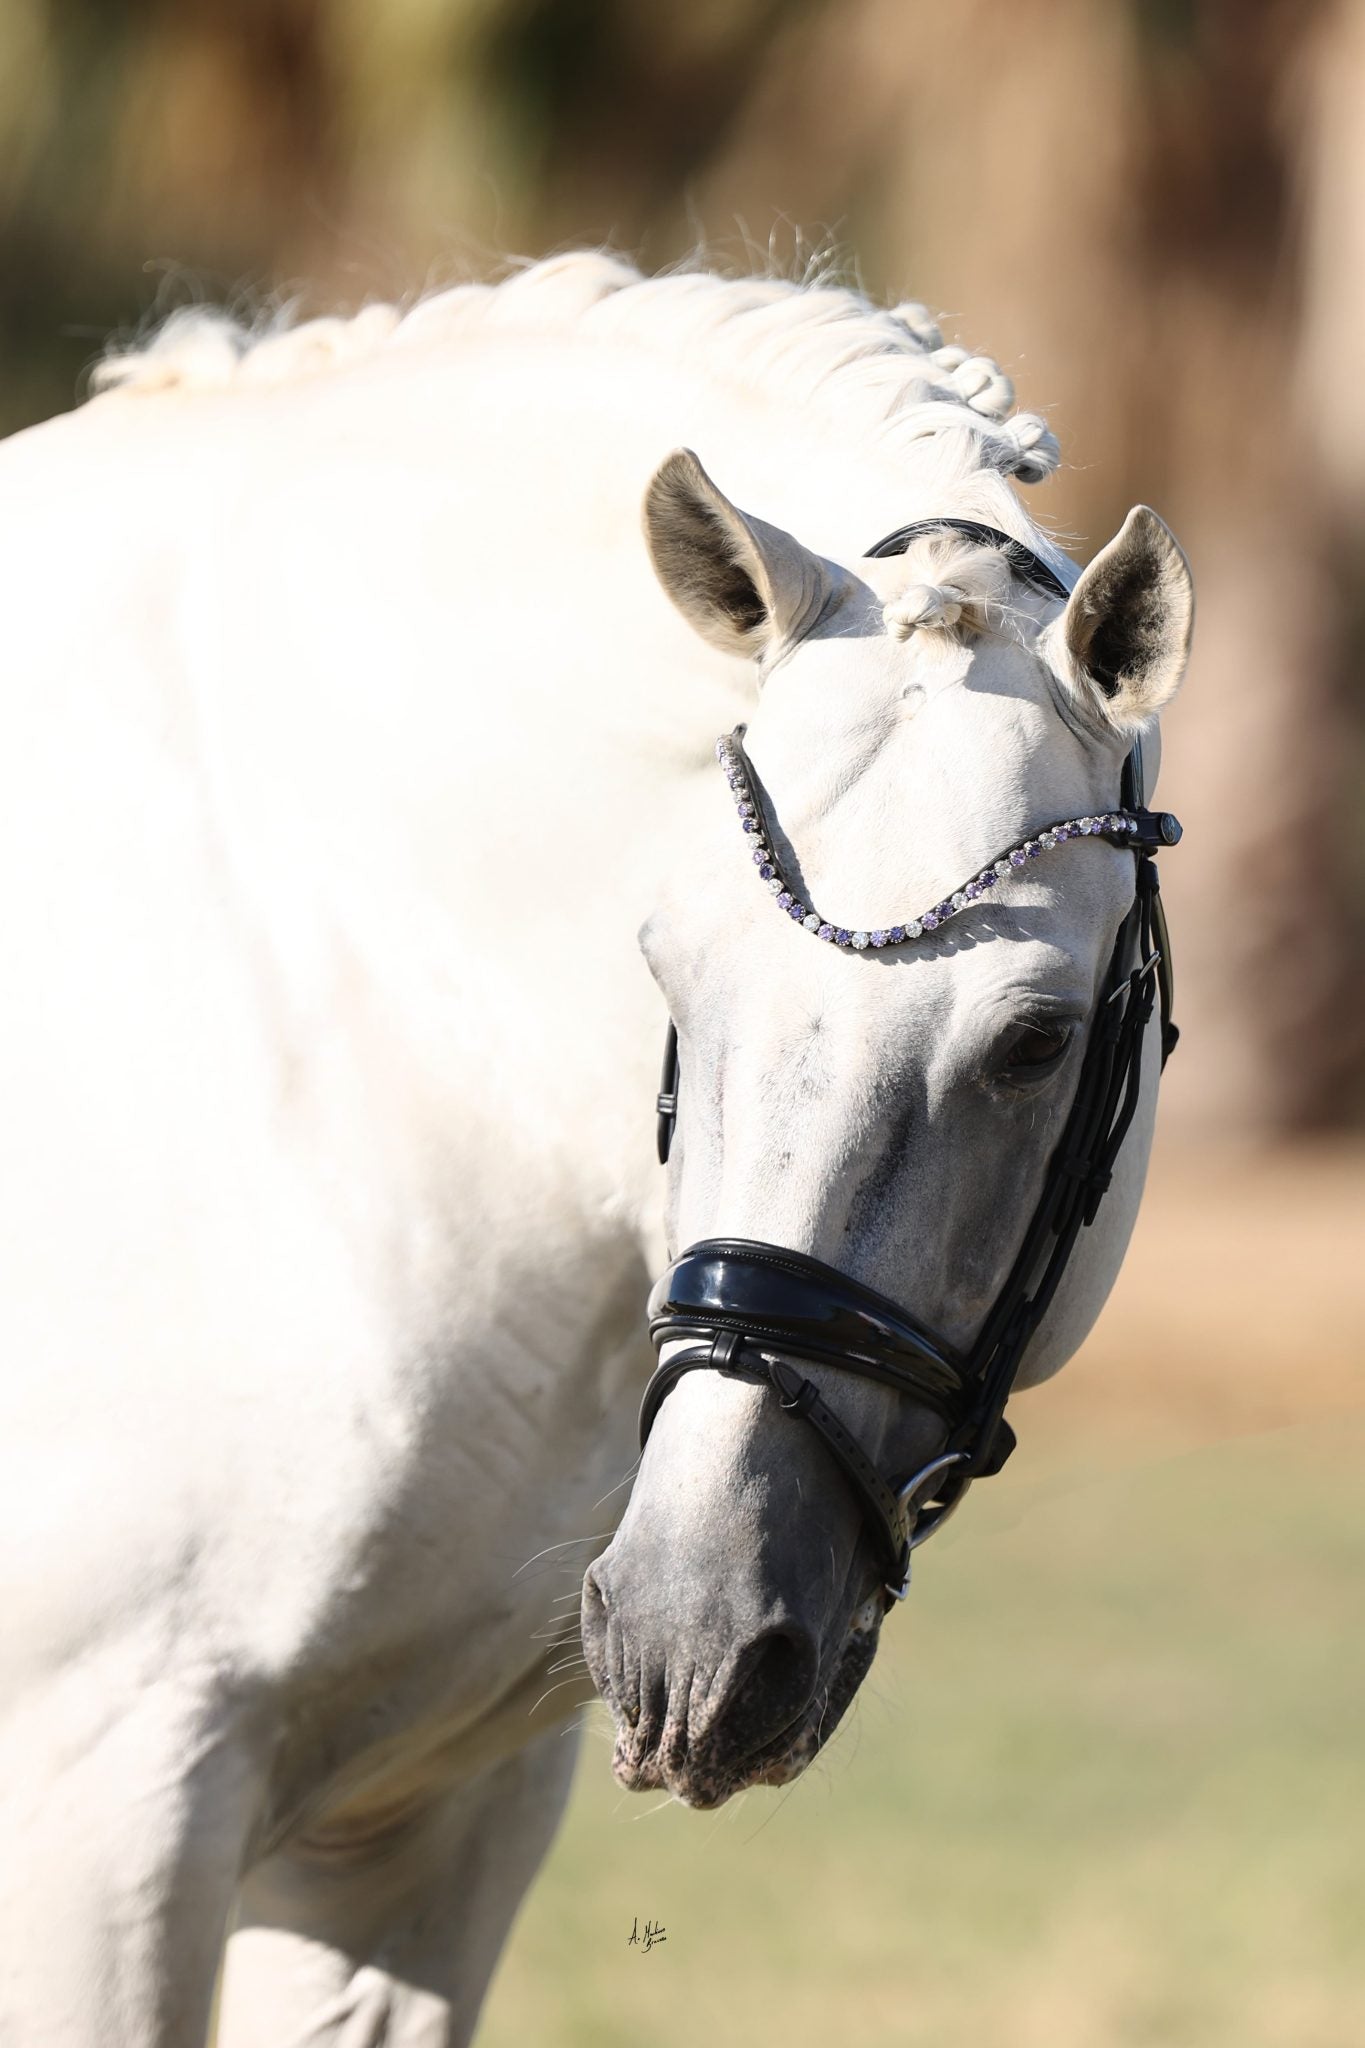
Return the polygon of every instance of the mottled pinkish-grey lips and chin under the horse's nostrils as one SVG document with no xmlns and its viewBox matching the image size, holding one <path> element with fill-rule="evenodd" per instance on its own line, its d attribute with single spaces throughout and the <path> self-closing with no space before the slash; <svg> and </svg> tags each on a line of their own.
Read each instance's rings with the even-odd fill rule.
<svg viewBox="0 0 1365 2048">
<path fill-rule="evenodd" d="M 788 1729 L 745 1757 L 726 1757 L 722 1745 L 690 1745 L 686 1729 L 669 1722 L 663 1741 L 641 1755 L 634 1731 L 618 1726 L 612 1772 L 626 1792 L 671 1792 L 681 1806 L 708 1812 L 751 1786 L 794 1784 L 819 1755 L 862 1686 L 882 1634 L 882 1599 L 872 1595 L 853 1612 L 847 1632 L 829 1659 L 810 1706 Z"/>
</svg>

